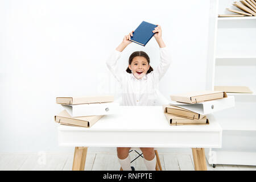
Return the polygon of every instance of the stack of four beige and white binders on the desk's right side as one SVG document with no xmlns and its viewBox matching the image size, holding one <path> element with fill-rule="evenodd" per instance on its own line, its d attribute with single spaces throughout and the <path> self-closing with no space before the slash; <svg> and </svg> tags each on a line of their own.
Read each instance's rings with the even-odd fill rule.
<svg viewBox="0 0 256 182">
<path fill-rule="evenodd" d="M 164 114 L 170 125 L 207 125 L 207 114 L 234 106 L 234 97 L 222 91 L 200 91 L 171 96 L 170 105 L 164 105 Z"/>
</svg>

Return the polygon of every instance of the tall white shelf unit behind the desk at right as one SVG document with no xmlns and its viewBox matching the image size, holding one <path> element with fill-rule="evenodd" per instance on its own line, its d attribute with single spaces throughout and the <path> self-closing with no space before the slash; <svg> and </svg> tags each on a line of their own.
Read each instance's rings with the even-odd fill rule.
<svg viewBox="0 0 256 182">
<path fill-rule="evenodd" d="M 207 89 L 249 86 L 253 93 L 228 93 L 236 106 L 214 114 L 222 127 L 222 148 L 205 150 L 209 164 L 256 166 L 256 17 L 220 18 L 237 9 L 233 0 L 212 0 Z"/>
</svg>

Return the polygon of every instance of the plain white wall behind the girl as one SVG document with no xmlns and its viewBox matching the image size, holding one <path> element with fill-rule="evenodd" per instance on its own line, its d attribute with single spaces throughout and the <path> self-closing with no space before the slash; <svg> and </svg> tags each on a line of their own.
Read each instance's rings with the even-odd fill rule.
<svg viewBox="0 0 256 182">
<path fill-rule="evenodd" d="M 67 150 L 57 147 L 55 98 L 117 95 L 105 60 L 142 20 L 162 26 L 172 52 L 160 92 L 205 89 L 209 1 L 1 1 L 0 16 L 0 152 Z M 152 38 L 146 47 L 130 44 L 120 69 L 138 50 L 156 68 Z"/>
</svg>

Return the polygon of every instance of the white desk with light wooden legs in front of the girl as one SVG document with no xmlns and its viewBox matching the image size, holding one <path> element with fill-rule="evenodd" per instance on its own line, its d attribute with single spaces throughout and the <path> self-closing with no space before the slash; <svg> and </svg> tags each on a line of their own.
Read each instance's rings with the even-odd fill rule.
<svg viewBox="0 0 256 182">
<path fill-rule="evenodd" d="M 171 126 L 162 106 L 120 106 L 118 114 L 105 115 L 90 128 L 60 125 L 59 145 L 76 147 L 74 163 L 81 160 L 80 169 L 87 147 L 189 147 L 195 169 L 201 170 L 206 169 L 204 148 L 220 148 L 222 141 L 221 126 L 207 116 L 209 125 Z"/>
</svg>

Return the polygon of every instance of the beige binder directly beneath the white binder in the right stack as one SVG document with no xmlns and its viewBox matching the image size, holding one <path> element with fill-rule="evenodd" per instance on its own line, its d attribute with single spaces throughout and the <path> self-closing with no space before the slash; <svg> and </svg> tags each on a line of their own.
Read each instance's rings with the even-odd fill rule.
<svg viewBox="0 0 256 182">
<path fill-rule="evenodd" d="M 191 110 L 184 109 L 182 107 L 174 105 L 164 105 L 164 113 L 176 115 L 177 117 L 188 118 L 188 119 L 202 119 L 204 115 L 195 113 Z"/>
</svg>

